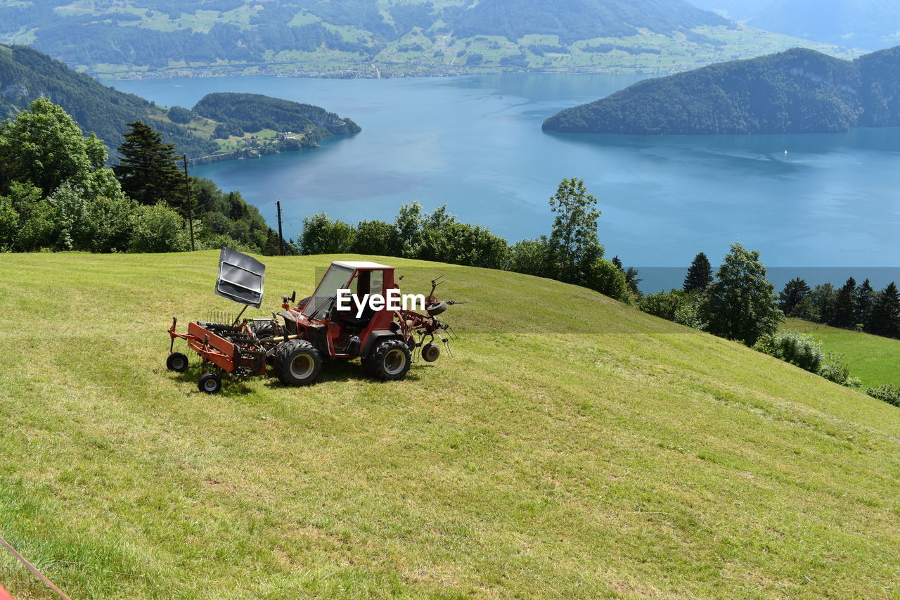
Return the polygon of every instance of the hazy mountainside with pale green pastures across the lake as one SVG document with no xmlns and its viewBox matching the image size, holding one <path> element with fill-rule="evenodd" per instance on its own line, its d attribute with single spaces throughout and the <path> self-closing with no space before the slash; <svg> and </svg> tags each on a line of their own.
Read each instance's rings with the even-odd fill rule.
<svg viewBox="0 0 900 600">
<path fill-rule="evenodd" d="M 0 3 L 2 42 L 96 74 L 341 77 L 671 71 L 797 45 L 686 0 L 16 0 Z"/>
</svg>

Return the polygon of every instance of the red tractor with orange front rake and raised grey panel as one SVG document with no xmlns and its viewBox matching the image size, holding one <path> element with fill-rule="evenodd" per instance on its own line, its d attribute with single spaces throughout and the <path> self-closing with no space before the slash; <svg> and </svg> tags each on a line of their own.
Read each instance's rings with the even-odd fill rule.
<svg viewBox="0 0 900 600">
<path fill-rule="evenodd" d="M 327 360 L 358 358 L 371 377 L 402 379 L 414 355 L 428 362 L 437 360 L 441 349 L 436 339 L 449 350 L 453 330 L 438 321 L 437 315 L 457 303 L 435 297 L 440 277 L 431 282 L 422 312 L 393 310 L 390 305 L 379 308 L 376 303 L 364 307 L 361 300 L 366 295 L 398 294 L 394 269 L 374 262 L 337 261 L 331 263 L 311 296 L 296 302 L 296 293 L 284 295 L 282 311 L 271 318 L 242 319 L 247 306 L 262 305 L 265 276 L 266 266 L 257 259 L 223 248 L 215 293 L 244 307 L 237 318 L 223 320 L 225 323 L 192 321 L 184 333 L 175 331 L 178 320 L 173 317 L 166 368 L 179 373 L 187 370 L 188 358 L 175 352 L 175 340 L 187 341 L 201 359 L 198 386 L 215 394 L 221 389 L 223 374 L 265 376 L 268 366 L 285 384 L 307 386 L 319 377 Z M 342 306 L 347 303 L 338 302 L 339 290 L 349 290 L 354 299 L 350 309 Z"/>
</svg>

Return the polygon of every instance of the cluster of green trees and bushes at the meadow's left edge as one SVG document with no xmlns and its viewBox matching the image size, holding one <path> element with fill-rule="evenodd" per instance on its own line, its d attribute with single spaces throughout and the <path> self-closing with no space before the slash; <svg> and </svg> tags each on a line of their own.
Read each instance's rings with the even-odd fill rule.
<svg viewBox="0 0 900 600">
<path fill-rule="evenodd" d="M 296 251 L 237 192 L 185 177 L 161 133 L 127 125 L 109 168 L 103 141 L 47 98 L 0 124 L 0 250 L 190 250 L 193 226 L 197 250 Z"/>
</svg>

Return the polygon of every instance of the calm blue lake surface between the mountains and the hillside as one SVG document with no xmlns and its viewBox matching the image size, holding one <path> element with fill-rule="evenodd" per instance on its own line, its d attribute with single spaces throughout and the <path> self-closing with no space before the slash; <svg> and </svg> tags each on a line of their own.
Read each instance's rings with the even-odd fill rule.
<svg viewBox="0 0 900 600">
<path fill-rule="evenodd" d="M 275 95 L 359 123 L 363 132 L 318 149 L 193 168 L 240 191 L 270 223 L 281 200 L 285 237 L 296 238 L 306 214 L 392 221 L 399 205 L 419 199 L 516 241 L 550 231 L 547 199 L 563 177 L 575 176 L 599 199 L 608 256 L 626 265 L 683 267 L 698 251 L 715 264 L 737 240 L 760 250 L 767 266 L 842 268 L 821 271 L 834 281 L 863 267 L 873 283 L 900 272 L 878 269 L 900 265 L 900 129 L 666 137 L 541 131 L 560 109 L 640 78 L 213 77 L 114 85 L 186 107 L 217 91 Z M 683 277 L 683 269 L 671 277 Z"/>
</svg>

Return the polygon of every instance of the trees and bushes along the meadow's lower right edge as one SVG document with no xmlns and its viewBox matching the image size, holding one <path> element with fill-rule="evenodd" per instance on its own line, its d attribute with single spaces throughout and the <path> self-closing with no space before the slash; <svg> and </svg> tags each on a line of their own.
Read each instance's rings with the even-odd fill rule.
<svg viewBox="0 0 900 600">
<path fill-rule="evenodd" d="M 851 387 L 860 387 L 860 380 L 851 377 L 842 356 L 825 352 L 810 335 L 779 331 L 785 316 L 887 337 L 900 333 L 900 297 L 894 282 L 876 292 L 868 279 L 857 286 L 851 277 L 840 289 L 824 284 L 811 290 L 796 277 L 776 295 L 760 253 L 737 242 L 715 276 L 707 255 L 700 252 L 681 289 L 644 295 L 638 307 L 675 323 L 742 341 L 754 350 Z M 896 386 L 869 387 L 866 393 L 900 406 Z"/>
</svg>

